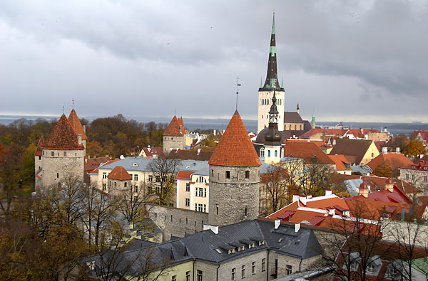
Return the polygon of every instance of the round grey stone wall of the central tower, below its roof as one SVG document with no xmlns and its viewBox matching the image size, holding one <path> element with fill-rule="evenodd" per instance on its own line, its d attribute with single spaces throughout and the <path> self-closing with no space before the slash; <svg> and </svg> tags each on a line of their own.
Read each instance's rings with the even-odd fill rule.
<svg viewBox="0 0 428 281">
<path fill-rule="evenodd" d="M 227 179 L 226 171 L 230 171 Z M 250 172 L 249 179 L 245 171 Z M 236 167 L 210 165 L 209 223 L 225 226 L 259 215 L 259 178 L 258 166 Z M 247 216 L 245 216 L 247 207 Z"/>
</svg>

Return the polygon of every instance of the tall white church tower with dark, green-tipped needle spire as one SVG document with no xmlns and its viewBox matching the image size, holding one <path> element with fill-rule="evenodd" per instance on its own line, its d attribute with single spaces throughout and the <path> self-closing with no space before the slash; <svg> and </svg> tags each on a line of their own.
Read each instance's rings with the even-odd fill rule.
<svg viewBox="0 0 428 281">
<path fill-rule="evenodd" d="M 284 99 L 285 90 L 282 88 L 278 81 L 277 75 L 277 57 L 276 57 L 276 43 L 275 43 L 275 13 L 273 14 L 272 21 L 272 34 L 270 35 L 270 50 L 269 60 L 267 61 L 267 75 L 265 84 L 258 90 L 258 126 L 257 133 L 262 129 L 265 129 L 269 125 L 269 110 L 270 102 L 273 97 L 273 93 L 277 98 L 276 105 L 279 111 L 278 115 L 278 129 L 284 130 L 284 122 L 282 121 L 284 116 Z"/>
</svg>

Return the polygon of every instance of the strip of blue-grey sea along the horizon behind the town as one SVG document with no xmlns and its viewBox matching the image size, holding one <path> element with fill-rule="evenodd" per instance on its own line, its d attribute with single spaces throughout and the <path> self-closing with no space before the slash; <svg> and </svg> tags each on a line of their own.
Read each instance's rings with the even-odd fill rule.
<svg viewBox="0 0 428 281">
<path fill-rule="evenodd" d="M 58 120 L 59 116 L 24 116 L 24 115 L 0 115 L 0 124 L 10 124 L 15 120 L 24 118 L 26 120 L 36 121 L 37 119 L 45 120 Z M 98 117 L 88 116 L 84 117 L 88 121 L 95 120 Z M 169 123 L 170 117 L 126 117 L 128 120 L 136 120 L 138 122 L 156 122 L 156 123 Z M 217 129 L 223 130 L 228 127 L 229 119 L 205 119 L 205 118 L 183 118 L 185 127 L 193 131 L 195 129 Z M 257 120 L 243 120 L 245 127 L 248 131 L 257 131 Z M 317 126 L 332 127 L 337 122 L 317 122 Z M 392 134 L 412 134 L 414 129 L 428 129 L 428 123 L 412 122 L 412 123 L 389 123 L 389 122 L 342 122 L 345 127 L 352 127 L 355 129 L 384 129 L 387 128 Z"/>
</svg>

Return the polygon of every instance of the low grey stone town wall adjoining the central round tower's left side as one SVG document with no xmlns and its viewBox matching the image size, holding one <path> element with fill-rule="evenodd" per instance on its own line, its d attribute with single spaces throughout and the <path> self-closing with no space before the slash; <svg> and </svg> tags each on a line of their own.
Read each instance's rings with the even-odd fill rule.
<svg viewBox="0 0 428 281">
<path fill-rule="evenodd" d="M 186 233 L 202 231 L 203 225 L 208 224 L 208 213 L 157 205 L 147 208 L 148 217 L 163 230 L 163 241 L 170 240 L 171 235 L 184 237 Z"/>
</svg>

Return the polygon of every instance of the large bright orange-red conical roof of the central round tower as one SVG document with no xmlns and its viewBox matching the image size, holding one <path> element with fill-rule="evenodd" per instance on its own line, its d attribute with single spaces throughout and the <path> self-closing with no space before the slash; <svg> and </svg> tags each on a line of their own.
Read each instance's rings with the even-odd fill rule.
<svg viewBox="0 0 428 281">
<path fill-rule="evenodd" d="M 235 111 L 208 164 L 218 166 L 260 166 L 262 163 L 248 137 L 243 120 Z"/>
</svg>

